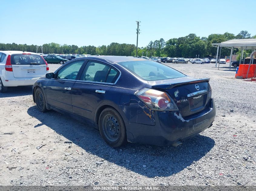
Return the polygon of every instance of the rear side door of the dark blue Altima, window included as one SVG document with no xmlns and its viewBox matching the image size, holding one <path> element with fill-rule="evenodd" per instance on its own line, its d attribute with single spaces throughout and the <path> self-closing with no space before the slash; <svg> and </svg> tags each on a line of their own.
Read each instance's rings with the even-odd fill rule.
<svg viewBox="0 0 256 191">
<path fill-rule="evenodd" d="M 93 122 L 97 106 L 106 100 L 119 74 L 107 63 L 89 60 L 72 88 L 74 113 Z"/>
</svg>

